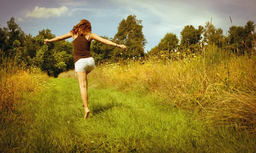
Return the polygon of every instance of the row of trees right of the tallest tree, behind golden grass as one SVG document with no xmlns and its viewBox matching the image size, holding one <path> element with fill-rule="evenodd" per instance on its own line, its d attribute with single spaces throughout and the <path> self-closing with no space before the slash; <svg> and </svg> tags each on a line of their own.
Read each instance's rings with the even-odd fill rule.
<svg viewBox="0 0 256 153">
<path fill-rule="evenodd" d="M 200 54 L 201 48 L 207 45 L 215 45 L 220 51 L 229 49 L 237 55 L 252 54 L 256 44 L 255 26 L 253 21 L 248 21 L 245 26 L 230 26 L 226 35 L 221 28 L 215 28 L 209 21 L 204 27 L 198 26 L 197 29 L 192 25 L 185 26 L 180 32 L 180 40 L 176 34 L 167 33 L 149 54 L 156 55 L 163 51 Z"/>
</svg>

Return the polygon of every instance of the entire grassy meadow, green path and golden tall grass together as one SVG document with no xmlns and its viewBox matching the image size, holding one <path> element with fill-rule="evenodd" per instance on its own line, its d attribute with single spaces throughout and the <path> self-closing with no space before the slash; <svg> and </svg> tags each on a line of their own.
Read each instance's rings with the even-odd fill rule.
<svg viewBox="0 0 256 153">
<path fill-rule="evenodd" d="M 0 152 L 256 151 L 253 54 L 212 46 L 98 64 L 87 120 L 74 71 L 15 63 L 0 73 Z"/>
</svg>

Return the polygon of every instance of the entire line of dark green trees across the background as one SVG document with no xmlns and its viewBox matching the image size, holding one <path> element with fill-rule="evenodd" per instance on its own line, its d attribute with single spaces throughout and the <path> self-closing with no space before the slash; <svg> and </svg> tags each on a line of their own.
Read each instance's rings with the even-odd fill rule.
<svg viewBox="0 0 256 153">
<path fill-rule="evenodd" d="M 96 62 L 157 56 L 163 52 L 171 54 L 182 51 L 186 54 L 200 54 L 201 48 L 207 45 L 216 45 L 220 50 L 228 48 L 237 55 L 251 54 L 256 40 L 255 26 L 253 21 L 248 21 L 245 26 L 230 26 L 228 34 L 224 35 L 221 28 L 215 28 L 209 22 L 204 27 L 198 26 L 197 29 L 189 25 L 180 32 L 180 40 L 176 34 L 166 33 L 158 45 L 145 53 L 147 41 L 142 31 L 142 20 L 137 20 L 135 15 L 129 15 L 119 23 L 113 38 L 102 36 L 118 44 L 125 44 L 126 51 L 93 41 L 91 53 Z M 34 37 L 25 34 L 12 17 L 7 21 L 7 27 L 0 27 L 0 67 L 3 66 L 5 58 L 9 57 L 16 58 L 19 64 L 38 67 L 54 77 L 63 71 L 73 69 L 73 42 L 63 40 L 44 45 L 45 38 L 53 37 L 55 35 L 49 29 L 39 31 Z"/>
</svg>

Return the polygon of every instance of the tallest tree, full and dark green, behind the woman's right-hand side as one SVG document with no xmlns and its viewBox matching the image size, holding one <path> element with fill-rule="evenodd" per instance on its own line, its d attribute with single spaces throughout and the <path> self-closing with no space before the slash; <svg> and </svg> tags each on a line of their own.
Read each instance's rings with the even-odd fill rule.
<svg viewBox="0 0 256 153">
<path fill-rule="evenodd" d="M 131 55 L 133 57 L 144 56 L 144 48 L 147 43 L 142 29 L 142 20 L 137 20 L 135 15 L 129 15 L 127 19 L 123 19 L 119 26 L 117 27 L 117 33 L 115 34 L 113 41 L 118 44 L 125 44 L 127 51 L 123 51 L 120 48 L 115 48 L 111 52 L 111 58 L 115 59 L 116 57 L 122 56 L 128 57 Z"/>
</svg>

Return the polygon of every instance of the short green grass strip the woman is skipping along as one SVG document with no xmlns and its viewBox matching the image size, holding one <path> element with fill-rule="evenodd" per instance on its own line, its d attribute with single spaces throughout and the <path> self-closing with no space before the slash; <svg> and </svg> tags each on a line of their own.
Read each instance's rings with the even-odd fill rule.
<svg viewBox="0 0 256 153">
<path fill-rule="evenodd" d="M 85 120 L 76 79 L 58 78 L 24 93 L 3 115 L 0 152 L 248 152 L 256 139 L 233 127 L 211 127 L 197 115 L 141 92 L 99 88 L 89 80 Z"/>
</svg>

